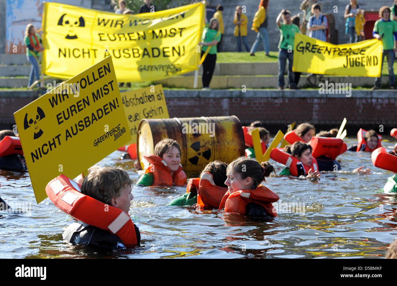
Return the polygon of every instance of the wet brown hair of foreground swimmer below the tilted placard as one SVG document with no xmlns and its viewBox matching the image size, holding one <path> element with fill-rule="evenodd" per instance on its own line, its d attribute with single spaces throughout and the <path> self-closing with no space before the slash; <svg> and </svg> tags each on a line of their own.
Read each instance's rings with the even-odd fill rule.
<svg viewBox="0 0 397 286">
<path fill-rule="evenodd" d="M 127 171 L 121 168 L 93 166 L 81 185 L 81 193 L 112 205 L 112 197 L 121 196 L 123 187 L 133 184 Z"/>
</svg>

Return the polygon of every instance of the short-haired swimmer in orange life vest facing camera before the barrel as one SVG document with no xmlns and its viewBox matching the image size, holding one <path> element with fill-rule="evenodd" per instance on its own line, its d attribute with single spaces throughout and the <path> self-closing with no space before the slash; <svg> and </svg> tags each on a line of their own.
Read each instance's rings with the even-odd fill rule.
<svg viewBox="0 0 397 286">
<path fill-rule="evenodd" d="M 136 187 L 186 185 L 186 174 L 181 165 L 181 147 L 177 141 L 164 138 L 154 147 L 154 155 L 145 154 L 143 157 L 150 165 Z"/>
</svg>

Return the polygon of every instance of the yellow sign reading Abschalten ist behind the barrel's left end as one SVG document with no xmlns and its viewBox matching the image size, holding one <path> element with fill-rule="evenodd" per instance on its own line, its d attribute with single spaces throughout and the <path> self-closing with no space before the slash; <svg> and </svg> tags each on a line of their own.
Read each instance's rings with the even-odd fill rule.
<svg viewBox="0 0 397 286">
<path fill-rule="evenodd" d="M 122 92 L 121 98 L 132 136 L 128 144 L 137 143 L 137 128 L 141 119 L 170 118 L 161 84 Z"/>
</svg>

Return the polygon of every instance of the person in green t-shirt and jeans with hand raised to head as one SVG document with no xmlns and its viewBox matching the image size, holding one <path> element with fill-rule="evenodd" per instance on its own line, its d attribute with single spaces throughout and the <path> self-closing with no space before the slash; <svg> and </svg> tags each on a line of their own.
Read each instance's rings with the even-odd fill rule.
<svg viewBox="0 0 397 286">
<path fill-rule="evenodd" d="M 283 18 L 284 23 L 281 23 Z M 281 10 L 276 19 L 280 29 L 280 41 L 278 44 L 278 89 L 284 89 L 284 70 L 288 59 L 288 84 L 290 89 L 297 89 L 295 75 L 292 72 L 294 56 L 295 33 L 299 33 L 299 27 L 291 21 L 291 13 L 288 10 Z"/>
</svg>

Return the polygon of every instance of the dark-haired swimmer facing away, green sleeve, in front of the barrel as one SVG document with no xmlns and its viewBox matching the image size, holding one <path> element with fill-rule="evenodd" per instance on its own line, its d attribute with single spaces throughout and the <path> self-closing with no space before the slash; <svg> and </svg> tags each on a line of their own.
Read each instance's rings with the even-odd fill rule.
<svg viewBox="0 0 397 286">
<path fill-rule="evenodd" d="M 215 160 L 209 162 L 201 171 L 200 178 L 191 178 L 187 183 L 186 193 L 174 199 L 168 205 L 190 206 L 197 209 L 218 208 L 227 191 L 224 184 L 227 164 Z"/>
</svg>

